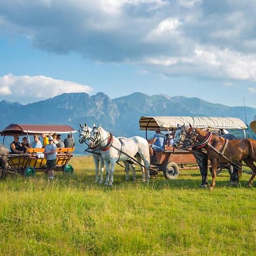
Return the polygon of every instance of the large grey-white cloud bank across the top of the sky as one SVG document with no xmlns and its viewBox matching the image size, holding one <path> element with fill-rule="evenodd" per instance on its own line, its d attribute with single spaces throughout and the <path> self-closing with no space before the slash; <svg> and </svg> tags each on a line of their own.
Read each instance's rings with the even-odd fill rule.
<svg viewBox="0 0 256 256">
<path fill-rule="evenodd" d="M 165 76 L 255 81 L 255 12 L 254 0 L 2 0 L 0 32 Z"/>
</svg>

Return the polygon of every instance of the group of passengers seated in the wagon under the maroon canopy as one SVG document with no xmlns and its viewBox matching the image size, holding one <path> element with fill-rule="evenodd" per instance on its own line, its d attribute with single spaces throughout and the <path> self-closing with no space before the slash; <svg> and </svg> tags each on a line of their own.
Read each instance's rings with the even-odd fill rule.
<svg viewBox="0 0 256 256">
<path fill-rule="evenodd" d="M 27 137 L 23 137 L 22 143 L 20 143 L 19 136 L 14 135 L 14 141 L 10 144 L 11 154 L 24 154 L 27 148 L 45 148 L 46 145 L 49 144 L 49 139 L 51 139 L 53 143 L 56 144 L 56 147 L 59 148 L 75 146 L 72 134 L 68 134 L 68 137 L 65 138 L 64 141 L 61 141 L 61 135 L 56 133 L 51 136 L 42 133 L 41 136 L 43 138 L 43 144 L 40 141 L 39 135 L 35 134 L 34 141 L 30 145 L 27 141 Z"/>
</svg>

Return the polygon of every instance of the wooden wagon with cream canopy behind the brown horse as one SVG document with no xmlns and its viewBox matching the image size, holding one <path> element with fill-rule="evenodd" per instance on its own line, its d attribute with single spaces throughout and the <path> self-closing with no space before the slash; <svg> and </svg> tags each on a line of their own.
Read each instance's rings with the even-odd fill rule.
<svg viewBox="0 0 256 256">
<path fill-rule="evenodd" d="M 155 152 L 155 163 L 151 164 L 152 174 L 163 172 L 166 179 L 176 179 L 179 176 L 179 170 L 192 170 L 199 168 L 192 151 L 175 149 L 171 146 L 171 137 L 174 137 L 178 125 L 189 125 L 201 129 L 210 129 L 213 132 L 221 133 L 222 130 L 243 130 L 245 137 L 245 123 L 239 118 L 221 118 L 221 117 L 141 117 L 139 127 L 146 130 L 146 139 L 148 131 L 160 129 L 167 134 L 167 144 L 161 152 Z M 222 166 L 224 167 L 224 166 Z M 231 166 L 225 166 L 232 168 Z"/>
</svg>

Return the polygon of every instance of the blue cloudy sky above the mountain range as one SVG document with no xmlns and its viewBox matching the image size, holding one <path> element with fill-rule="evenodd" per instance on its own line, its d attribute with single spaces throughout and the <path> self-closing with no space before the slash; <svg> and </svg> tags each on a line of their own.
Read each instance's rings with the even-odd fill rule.
<svg viewBox="0 0 256 256">
<path fill-rule="evenodd" d="M 0 100 L 199 97 L 256 108 L 255 0 L 1 0 Z"/>
</svg>

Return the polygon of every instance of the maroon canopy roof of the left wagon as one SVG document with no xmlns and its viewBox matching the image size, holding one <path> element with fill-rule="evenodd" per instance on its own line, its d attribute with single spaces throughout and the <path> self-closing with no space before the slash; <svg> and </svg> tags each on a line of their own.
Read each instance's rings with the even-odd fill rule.
<svg viewBox="0 0 256 256">
<path fill-rule="evenodd" d="M 15 134 L 52 134 L 52 133 L 76 133 L 71 126 L 68 125 L 20 125 L 11 123 L 0 131 L 1 135 L 15 135 Z"/>
</svg>

